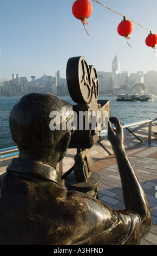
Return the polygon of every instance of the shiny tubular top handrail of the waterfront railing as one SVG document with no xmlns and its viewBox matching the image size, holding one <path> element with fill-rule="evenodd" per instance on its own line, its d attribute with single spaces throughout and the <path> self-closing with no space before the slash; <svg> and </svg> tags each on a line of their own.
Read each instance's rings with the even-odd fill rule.
<svg viewBox="0 0 157 256">
<path fill-rule="evenodd" d="M 129 124 L 123 124 L 122 129 L 126 129 L 128 127 L 132 127 L 132 126 L 138 126 L 138 125 L 142 125 L 142 124 L 150 124 L 152 123 L 152 121 L 156 121 L 157 118 L 154 119 L 148 119 L 148 120 L 143 120 L 143 121 L 139 121 L 139 122 L 135 122 L 135 123 L 129 123 Z M 149 129 L 151 129 L 151 127 L 149 127 Z M 150 133 L 148 131 L 148 133 Z M 104 137 L 107 136 L 107 129 L 106 130 L 102 130 L 101 131 L 101 139 L 99 141 L 102 141 L 104 139 Z M 150 137 L 150 134 L 149 134 Z M 148 139 L 148 143 L 150 142 L 150 138 Z M 150 144 L 150 143 L 149 143 Z M 10 148 L 5 148 L 5 149 L 0 149 L 0 159 L 4 158 L 4 157 L 8 157 L 11 155 L 18 155 L 18 148 L 15 147 L 10 147 Z"/>
</svg>

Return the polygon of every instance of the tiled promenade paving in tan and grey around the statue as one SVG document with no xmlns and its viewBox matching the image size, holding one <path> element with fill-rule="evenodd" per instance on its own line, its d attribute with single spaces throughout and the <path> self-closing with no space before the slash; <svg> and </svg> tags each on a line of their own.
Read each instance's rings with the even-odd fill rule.
<svg viewBox="0 0 157 256">
<path fill-rule="evenodd" d="M 148 126 L 142 127 L 136 132 L 134 137 L 125 130 L 125 148 L 128 159 L 133 166 L 134 172 L 138 176 L 143 190 L 148 199 L 149 208 L 152 215 L 152 228 L 149 233 L 142 238 L 141 245 L 157 245 L 157 126 L 152 126 L 152 141 L 148 144 Z M 142 143 L 139 141 L 141 139 Z M 122 187 L 116 159 L 110 143 L 107 139 L 103 142 L 104 148 L 96 144 L 91 149 L 93 157 L 93 172 L 101 176 L 99 186 L 99 199 L 113 209 L 125 209 L 123 203 Z M 110 154 L 108 154 L 110 153 Z M 63 173 L 74 164 L 74 149 L 68 149 L 66 157 L 62 161 Z M 5 172 L 12 157 L 0 159 L 0 174 Z M 61 167 L 61 166 L 60 166 Z M 58 164 L 58 170 L 59 170 Z"/>
</svg>

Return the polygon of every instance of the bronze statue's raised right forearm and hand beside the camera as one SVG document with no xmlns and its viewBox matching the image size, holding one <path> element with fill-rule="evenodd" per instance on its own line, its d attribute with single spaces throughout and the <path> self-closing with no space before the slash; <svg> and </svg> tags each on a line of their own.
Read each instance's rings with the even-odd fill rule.
<svg viewBox="0 0 157 256">
<path fill-rule="evenodd" d="M 115 129 L 112 128 L 111 122 L 115 125 Z M 119 168 L 126 209 L 135 211 L 140 215 L 142 235 L 144 235 L 151 228 L 151 214 L 146 195 L 126 155 L 123 130 L 117 118 L 109 118 L 108 139 L 112 144 Z"/>
</svg>

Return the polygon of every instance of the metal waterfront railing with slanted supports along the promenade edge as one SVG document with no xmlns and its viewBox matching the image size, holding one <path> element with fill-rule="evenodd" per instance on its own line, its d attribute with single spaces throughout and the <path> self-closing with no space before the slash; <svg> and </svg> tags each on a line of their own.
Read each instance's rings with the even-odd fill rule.
<svg viewBox="0 0 157 256">
<path fill-rule="evenodd" d="M 151 145 L 152 122 L 155 123 L 155 121 L 157 121 L 157 118 L 143 120 L 143 121 L 139 121 L 139 122 L 136 122 L 136 123 L 124 124 L 124 125 L 122 125 L 122 129 L 127 129 L 130 133 L 132 133 L 132 135 L 134 135 L 142 143 L 141 139 L 138 136 L 136 136 L 134 132 L 141 129 L 146 124 L 148 124 L 148 144 Z M 134 127 L 134 129 L 130 130 L 129 129 L 130 127 Z M 106 138 L 106 137 L 107 137 L 107 130 L 102 130 L 101 131 L 101 138 L 99 139 L 99 144 L 101 146 L 102 146 L 101 141 L 103 141 L 104 138 Z M 104 149 L 107 150 L 106 148 L 104 148 Z M 18 153 L 18 148 L 16 146 L 11 147 L 11 148 L 0 149 L 0 159 L 3 159 L 3 158 L 8 157 L 8 156 L 15 156 L 15 155 L 18 155 L 18 154 L 19 154 Z M 62 167 L 62 164 L 60 164 L 60 167 Z"/>
</svg>

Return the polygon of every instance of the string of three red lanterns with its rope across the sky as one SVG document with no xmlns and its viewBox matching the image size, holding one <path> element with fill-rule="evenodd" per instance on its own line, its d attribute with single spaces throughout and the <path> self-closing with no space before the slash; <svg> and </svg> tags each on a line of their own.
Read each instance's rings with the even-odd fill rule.
<svg viewBox="0 0 157 256">
<path fill-rule="evenodd" d="M 142 26 L 138 22 L 136 22 L 132 19 L 129 19 L 128 17 L 119 13 L 118 11 L 115 11 L 112 8 L 107 7 L 107 5 L 101 3 L 97 0 L 93 0 L 93 1 L 103 5 L 103 7 L 106 7 L 109 10 L 114 11 L 114 13 L 123 16 L 123 21 L 121 21 L 119 26 L 117 27 L 117 32 L 119 33 L 119 35 L 124 36 L 127 39 L 130 39 L 129 35 L 133 32 L 133 28 L 134 28 L 133 23 L 135 23 L 136 25 L 139 25 L 140 27 L 145 28 L 150 32 L 150 34 L 147 36 L 145 42 L 146 42 L 147 46 L 155 48 L 155 45 L 157 44 L 157 33 L 153 32 L 149 28 L 146 28 L 146 27 Z M 93 11 L 93 6 L 92 6 L 92 4 L 90 3 L 89 0 L 76 0 L 73 4 L 73 7 L 72 7 L 73 15 L 75 16 L 76 19 L 81 20 L 87 34 L 88 34 L 88 31 L 85 27 L 85 23 L 88 25 L 87 19 L 91 15 L 92 11 Z"/>
</svg>

